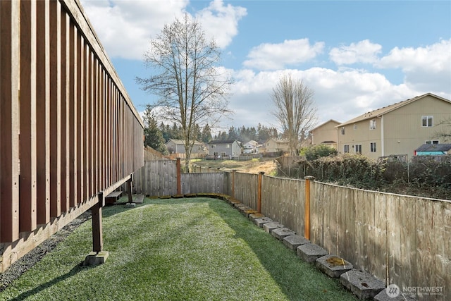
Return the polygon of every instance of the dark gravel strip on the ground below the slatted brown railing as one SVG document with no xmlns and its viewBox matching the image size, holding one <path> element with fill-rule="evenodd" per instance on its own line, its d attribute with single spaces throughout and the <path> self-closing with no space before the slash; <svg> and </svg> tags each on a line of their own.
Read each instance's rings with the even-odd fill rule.
<svg viewBox="0 0 451 301">
<path fill-rule="evenodd" d="M 44 240 L 40 245 L 33 250 L 25 254 L 18 261 L 11 264 L 6 271 L 0 273 L 0 292 L 8 287 L 16 278 L 20 277 L 27 269 L 34 266 L 39 260 L 41 260 L 47 253 L 54 250 L 59 242 L 63 241 L 72 231 L 75 230 L 85 221 L 91 219 L 91 211 L 87 210 L 80 214 L 73 221 L 64 226 L 60 231 L 51 235 L 50 238 Z"/>
</svg>

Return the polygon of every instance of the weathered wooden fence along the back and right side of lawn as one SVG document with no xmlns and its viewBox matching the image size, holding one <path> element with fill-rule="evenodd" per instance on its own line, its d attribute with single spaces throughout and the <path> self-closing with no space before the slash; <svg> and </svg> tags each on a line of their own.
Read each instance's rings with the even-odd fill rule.
<svg viewBox="0 0 451 301">
<path fill-rule="evenodd" d="M 171 168 L 176 177 L 175 164 Z M 159 177 L 159 171 L 147 175 Z M 438 287 L 443 291 L 438 300 L 451 300 L 450 201 L 263 173 L 223 172 L 223 191 L 212 191 L 221 186 L 220 178 L 212 175 L 216 173 L 182 174 L 181 194 L 224 193 L 254 209 L 260 206 L 262 214 L 300 235 L 307 228 L 311 242 L 345 258 L 354 268 L 380 278 L 386 285 L 396 284 L 401 289 Z M 152 182 L 149 178 L 147 181 Z M 176 182 L 177 179 L 172 180 L 173 185 Z M 307 188 L 309 226 L 305 219 Z"/>
</svg>

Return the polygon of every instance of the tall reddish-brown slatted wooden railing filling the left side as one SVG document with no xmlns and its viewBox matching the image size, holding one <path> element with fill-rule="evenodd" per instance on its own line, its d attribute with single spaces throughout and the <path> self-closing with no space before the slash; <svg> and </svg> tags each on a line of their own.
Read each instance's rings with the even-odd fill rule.
<svg viewBox="0 0 451 301">
<path fill-rule="evenodd" d="M 4 271 L 130 179 L 143 130 L 78 0 L 0 1 L 0 34 Z"/>
</svg>

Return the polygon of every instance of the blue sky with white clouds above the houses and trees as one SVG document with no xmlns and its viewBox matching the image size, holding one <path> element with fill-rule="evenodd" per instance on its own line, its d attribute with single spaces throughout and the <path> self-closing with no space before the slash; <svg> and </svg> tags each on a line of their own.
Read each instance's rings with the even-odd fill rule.
<svg viewBox="0 0 451 301">
<path fill-rule="evenodd" d="M 314 92 L 317 123 L 344 123 L 431 92 L 451 99 L 451 1 L 81 0 L 137 111 L 155 96 L 144 52 L 185 13 L 221 50 L 233 75 L 214 130 L 280 128 L 271 92 L 290 73 Z"/>
</svg>

